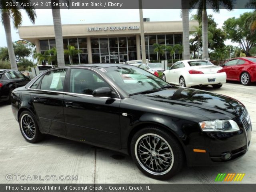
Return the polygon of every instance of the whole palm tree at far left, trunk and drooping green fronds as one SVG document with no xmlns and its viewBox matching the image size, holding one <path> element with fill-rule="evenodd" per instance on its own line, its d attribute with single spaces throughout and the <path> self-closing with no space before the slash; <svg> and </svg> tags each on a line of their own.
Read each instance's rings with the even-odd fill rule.
<svg viewBox="0 0 256 192">
<path fill-rule="evenodd" d="M 16 2 L 18 1 L 8 0 L 8 2 L 13 3 L 13 6 L 11 8 L 6 6 L 6 0 L 0 0 L 0 17 L 2 17 L 2 23 L 4 25 L 11 68 L 14 70 L 18 70 L 14 54 L 14 48 L 12 45 L 10 18 L 12 18 L 14 27 L 17 29 L 18 26 L 22 24 L 22 15 L 20 12 L 20 8 L 24 8 L 26 14 L 28 14 L 28 17 L 33 24 L 35 23 L 36 11 L 33 6 L 21 6 L 20 3 L 17 5 Z M 30 2 L 30 0 L 23 0 L 22 2 L 27 4 Z"/>
</svg>

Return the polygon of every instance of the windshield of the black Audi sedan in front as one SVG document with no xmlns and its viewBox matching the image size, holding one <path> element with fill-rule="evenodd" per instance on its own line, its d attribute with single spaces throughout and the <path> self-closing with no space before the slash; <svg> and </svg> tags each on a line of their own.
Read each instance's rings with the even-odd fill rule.
<svg viewBox="0 0 256 192">
<path fill-rule="evenodd" d="M 128 94 L 157 90 L 170 86 L 165 81 L 136 66 L 116 66 L 100 69 Z"/>
</svg>

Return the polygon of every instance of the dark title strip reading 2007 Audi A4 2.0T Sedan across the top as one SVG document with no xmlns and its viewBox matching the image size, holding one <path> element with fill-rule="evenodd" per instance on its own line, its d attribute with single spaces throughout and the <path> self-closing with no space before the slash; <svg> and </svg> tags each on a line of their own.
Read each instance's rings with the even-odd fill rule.
<svg viewBox="0 0 256 192">
<path fill-rule="evenodd" d="M 256 0 L 6 0 L 0 8 L 36 8 L 36 9 L 188 9 L 200 8 L 206 2 L 206 8 L 223 9 L 226 4 L 233 8 L 250 8 L 250 2 Z M 224 2 L 224 3 L 223 3 Z"/>
</svg>

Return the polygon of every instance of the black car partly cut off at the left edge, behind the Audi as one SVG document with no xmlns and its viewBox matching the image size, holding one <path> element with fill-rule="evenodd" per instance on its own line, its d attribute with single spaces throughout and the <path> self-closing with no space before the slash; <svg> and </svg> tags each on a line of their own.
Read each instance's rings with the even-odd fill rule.
<svg viewBox="0 0 256 192">
<path fill-rule="evenodd" d="M 19 71 L 0 69 L 0 102 L 10 101 L 12 90 L 30 82 L 30 78 Z"/>
</svg>

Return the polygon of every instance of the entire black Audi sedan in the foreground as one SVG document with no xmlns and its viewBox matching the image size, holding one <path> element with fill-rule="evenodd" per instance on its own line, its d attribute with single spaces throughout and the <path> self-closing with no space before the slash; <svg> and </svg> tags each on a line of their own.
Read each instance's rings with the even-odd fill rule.
<svg viewBox="0 0 256 192">
<path fill-rule="evenodd" d="M 12 92 L 12 111 L 28 142 L 51 134 L 120 151 L 160 180 L 185 163 L 212 165 L 241 157 L 252 130 L 239 101 L 170 85 L 126 64 L 48 70 Z"/>
</svg>

